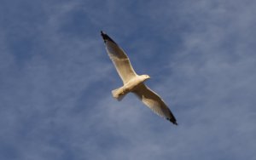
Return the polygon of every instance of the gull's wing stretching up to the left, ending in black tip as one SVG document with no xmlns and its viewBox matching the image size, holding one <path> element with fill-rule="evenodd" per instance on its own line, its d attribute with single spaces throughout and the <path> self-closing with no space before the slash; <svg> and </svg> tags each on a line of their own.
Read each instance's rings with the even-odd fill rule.
<svg viewBox="0 0 256 160">
<path fill-rule="evenodd" d="M 131 66 L 131 62 L 123 49 L 119 48 L 119 45 L 113 41 L 111 37 L 102 32 L 102 38 L 106 45 L 106 49 L 110 59 L 113 61 L 113 65 L 119 73 L 119 77 L 123 80 L 123 83 L 127 83 L 132 77 L 136 77 L 137 74 Z"/>
</svg>

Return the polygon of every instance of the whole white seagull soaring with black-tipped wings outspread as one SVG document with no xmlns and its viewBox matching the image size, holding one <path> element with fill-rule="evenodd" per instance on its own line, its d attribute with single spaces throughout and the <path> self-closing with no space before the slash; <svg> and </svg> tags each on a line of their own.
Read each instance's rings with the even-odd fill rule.
<svg viewBox="0 0 256 160">
<path fill-rule="evenodd" d="M 137 75 L 131 66 L 131 62 L 125 54 L 125 51 L 119 47 L 106 33 L 101 31 L 108 56 L 113 62 L 116 71 L 119 73 L 124 85 L 119 89 L 112 91 L 113 98 L 122 100 L 125 94 L 133 93 L 143 101 L 152 111 L 160 117 L 165 117 L 168 121 L 177 125 L 176 118 L 173 116 L 172 111 L 166 106 L 164 100 L 160 96 L 149 89 L 144 81 L 149 79 L 148 75 Z"/>
</svg>

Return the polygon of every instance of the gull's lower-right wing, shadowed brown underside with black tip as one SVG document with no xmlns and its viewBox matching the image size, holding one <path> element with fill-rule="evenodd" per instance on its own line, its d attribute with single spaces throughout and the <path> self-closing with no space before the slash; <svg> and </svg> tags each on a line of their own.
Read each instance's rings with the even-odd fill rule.
<svg viewBox="0 0 256 160">
<path fill-rule="evenodd" d="M 166 117 L 166 119 L 172 123 L 177 124 L 176 118 L 173 116 L 172 111 L 166 106 L 165 102 L 158 94 L 148 89 L 145 84 L 140 85 L 133 93 L 137 94 L 138 98 L 160 117 Z"/>
</svg>

